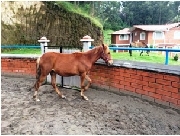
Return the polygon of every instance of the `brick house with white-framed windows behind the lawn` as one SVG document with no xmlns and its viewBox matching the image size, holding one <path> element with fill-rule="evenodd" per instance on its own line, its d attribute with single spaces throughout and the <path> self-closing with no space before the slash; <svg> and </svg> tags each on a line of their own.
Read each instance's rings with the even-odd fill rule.
<svg viewBox="0 0 180 136">
<path fill-rule="evenodd" d="M 111 33 L 111 45 L 127 47 L 140 41 L 157 48 L 180 48 L 180 22 L 166 25 L 134 25 Z"/>
</svg>

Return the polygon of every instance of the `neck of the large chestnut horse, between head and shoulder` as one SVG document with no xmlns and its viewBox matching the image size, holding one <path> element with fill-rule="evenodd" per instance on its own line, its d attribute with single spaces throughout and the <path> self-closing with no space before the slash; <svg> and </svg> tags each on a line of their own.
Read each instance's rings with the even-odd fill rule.
<svg viewBox="0 0 180 136">
<path fill-rule="evenodd" d="M 88 60 L 90 60 L 91 63 L 94 63 L 101 57 L 101 49 L 100 49 L 100 47 L 99 48 L 96 47 L 96 48 L 86 52 L 86 55 L 88 57 Z"/>
</svg>

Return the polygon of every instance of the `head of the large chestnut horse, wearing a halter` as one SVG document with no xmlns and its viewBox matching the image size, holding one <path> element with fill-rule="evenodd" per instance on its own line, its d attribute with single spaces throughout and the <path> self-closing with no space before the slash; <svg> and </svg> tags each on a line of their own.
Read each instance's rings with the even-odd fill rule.
<svg viewBox="0 0 180 136">
<path fill-rule="evenodd" d="M 106 64 L 108 64 L 108 66 L 112 65 L 113 59 L 111 57 L 109 47 L 107 45 L 102 44 L 102 49 L 103 51 L 101 53 L 101 59 L 103 59 L 106 62 Z"/>
</svg>

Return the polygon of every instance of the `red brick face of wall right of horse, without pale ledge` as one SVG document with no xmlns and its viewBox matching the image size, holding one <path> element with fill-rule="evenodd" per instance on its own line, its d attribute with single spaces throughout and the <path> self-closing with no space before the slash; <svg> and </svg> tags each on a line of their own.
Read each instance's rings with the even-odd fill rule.
<svg viewBox="0 0 180 136">
<path fill-rule="evenodd" d="M 95 65 L 93 84 L 106 89 L 132 92 L 153 102 L 180 108 L 180 76 L 122 67 Z"/>
</svg>

